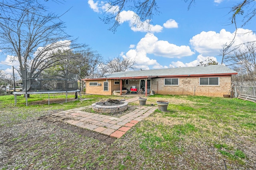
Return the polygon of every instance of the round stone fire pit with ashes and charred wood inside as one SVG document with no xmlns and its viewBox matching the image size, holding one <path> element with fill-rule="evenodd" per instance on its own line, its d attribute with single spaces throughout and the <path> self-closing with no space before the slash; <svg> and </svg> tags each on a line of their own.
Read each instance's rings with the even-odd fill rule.
<svg viewBox="0 0 256 170">
<path fill-rule="evenodd" d="M 128 102 L 115 99 L 92 104 L 92 109 L 98 113 L 120 113 L 128 109 Z"/>
</svg>

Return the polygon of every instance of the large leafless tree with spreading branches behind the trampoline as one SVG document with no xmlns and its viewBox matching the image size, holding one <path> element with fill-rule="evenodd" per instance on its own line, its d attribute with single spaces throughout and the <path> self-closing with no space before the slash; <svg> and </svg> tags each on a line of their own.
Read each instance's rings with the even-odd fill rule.
<svg viewBox="0 0 256 170">
<path fill-rule="evenodd" d="M 20 63 L 20 76 L 27 79 L 38 76 L 40 71 L 64 62 L 66 51 L 87 49 L 76 44 L 64 32 L 65 25 L 37 0 L 14 1 L 12 6 L 1 6 L 0 45 L 2 52 L 13 55 Z M 58 52 L 57 52 L 58 51 Z M 30 85 L 27 86 L 29 89 Z"/>
</svg>

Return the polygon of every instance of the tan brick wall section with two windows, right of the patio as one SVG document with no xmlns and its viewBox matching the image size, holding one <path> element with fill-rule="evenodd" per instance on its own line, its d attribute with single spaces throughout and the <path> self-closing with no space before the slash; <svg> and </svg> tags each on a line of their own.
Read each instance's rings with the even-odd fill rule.
<svg viewBox="0 0 256 170">
<path fill-rule="evenodd" d="M 174 77 L 175 78 L 175 77 Z M 200 77 L 178 77 L 179 85 L 164 85 L 164 78 L 154 79 L 151 89 L 162 95 L 198 95 L 219 96 L 228 94 L 231 86 L 231 76 L 219 77 L 220 85 L 199 85 Z"/>
</svg>

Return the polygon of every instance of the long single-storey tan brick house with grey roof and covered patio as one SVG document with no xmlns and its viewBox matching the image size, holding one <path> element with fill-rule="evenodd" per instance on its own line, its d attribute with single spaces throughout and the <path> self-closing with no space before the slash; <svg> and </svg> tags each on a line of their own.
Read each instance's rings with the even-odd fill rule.
<svg viewBox="0 0 256 170">
<path fill-rule="evenodd" d="M 102 78 L 84 79 L 87 94 L 112 95 L 144 90 L 162 95 L 223 96 L 237 72 L 224 65 L 124 71 Z"/>
</svg>

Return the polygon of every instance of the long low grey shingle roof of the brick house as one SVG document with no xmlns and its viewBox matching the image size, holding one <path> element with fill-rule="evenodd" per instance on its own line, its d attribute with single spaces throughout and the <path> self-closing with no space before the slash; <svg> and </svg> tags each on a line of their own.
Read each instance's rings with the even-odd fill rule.
<svg viewBox="0 0 256 170">
<path fill-rule="evenodd" d="M 168 69 L 152 69 L 138 71 L 117 72 L 100 79 L 114 78 L 142 78 L 142 77 L 178 77 L 178 76 L 203 76 L 203 75 L 232 75 L 237 74 L 236 71 L 225 65 L 207 65 L 196 67 L 178 67 Z M 86 79 L 85 79 L 86 80 Z"/>
</svg>

